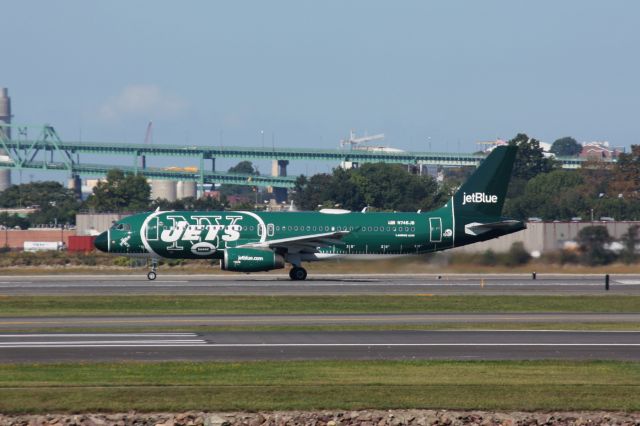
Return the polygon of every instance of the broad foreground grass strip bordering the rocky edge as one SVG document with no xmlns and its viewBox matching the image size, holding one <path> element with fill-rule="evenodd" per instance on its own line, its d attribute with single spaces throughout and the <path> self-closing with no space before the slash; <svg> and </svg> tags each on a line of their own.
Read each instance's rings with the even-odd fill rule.
<svg viewBox="0 0 640 426">
<path fill-rule="evenodd" d="M 0 365 L 0 412 L 640 410 L 640 363 L 293 361 Z"/>
</svg>

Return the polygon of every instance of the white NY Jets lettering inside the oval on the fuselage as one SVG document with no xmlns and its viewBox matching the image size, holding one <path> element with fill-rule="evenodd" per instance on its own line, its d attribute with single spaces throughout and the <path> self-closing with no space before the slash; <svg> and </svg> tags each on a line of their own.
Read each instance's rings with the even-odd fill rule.
<svg viewBox="0 0 640 426">
<path fill-rule="evenodd" d="M 160 241 L 171 243 L 167 250 L 184 250 L 184 242 L 191 244 L 207 242 L 211 248 L 227 246 L 228 242 L 240 239 L 242 226 L 238 222 L 243 216 L 238 215 L 194 215 L 186 218 L 183 215 L 167 215 L 160 232 Z"/>
</svg>

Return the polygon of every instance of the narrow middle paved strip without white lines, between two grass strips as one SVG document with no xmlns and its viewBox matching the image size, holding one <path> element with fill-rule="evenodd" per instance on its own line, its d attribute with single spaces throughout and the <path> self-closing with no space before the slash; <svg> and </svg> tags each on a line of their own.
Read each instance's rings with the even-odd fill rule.
<svg viewBox="0 0 640 426">
<path fill-rule="evenodd" d="M 640 313 L 271 314 L 0 317 L 0 331 L 234 326 L 385 326 L 479 323 L 640 323 Z"/>
</svg>

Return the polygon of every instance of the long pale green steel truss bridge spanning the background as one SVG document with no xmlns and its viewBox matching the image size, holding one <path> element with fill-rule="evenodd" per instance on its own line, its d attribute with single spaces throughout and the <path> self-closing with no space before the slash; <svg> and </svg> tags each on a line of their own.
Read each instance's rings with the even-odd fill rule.
<svg viewBox="0 0 640 426">
<path fill-rule="evenodd" d="M 11 131 L 9 131 L 11 130 Z M 9 138 L 7 135 L 13 137 Z M 31 135 L 35 134 L 35 137 Z M 198 145 L 151 145 L 111 142 L 63 141 L 49 125 L 25 126 L 0 123 L 0 167 L 12 169 L 38 169 L 64 171 L 70 176 L 104 176 L 111 169 L 128 173 L 141 173 L 150 179 L 225 183 L 234 185 L 272 186 L 292 188 L 295 176 L 250 176 L 218 172 L 216 158 L 243 160 L 276 160 L 281 170 L 286 170 L 289 161 L 330 161 L 334 163 L 399 163 L 409 165 L 475 166 L 484 158 L 481 155 L 436 152 L 382 152 L 366 150 L 322 150 L 299 148 L 245 148 Z M 87 164 L 80 161 L 80 154 L 128 157 L 117 165 Z M 176 168 L 161 169 L 146 167 L 146 158 L 188 157 L 199 160 L 197 171 Z M 581 158 L 557 158 L 563 168 L 576 169 L 585 161 Z M 126 166 L 126 164 L 129 164 Z M 207 167 L 208 166 L 208 167 Z M 284 173 L 283 173 L 284 174 Z"/>
</svg>

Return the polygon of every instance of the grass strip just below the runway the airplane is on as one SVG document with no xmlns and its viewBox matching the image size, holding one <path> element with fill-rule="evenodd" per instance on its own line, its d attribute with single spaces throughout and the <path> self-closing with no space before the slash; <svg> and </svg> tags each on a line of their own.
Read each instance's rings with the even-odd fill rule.
<svg viewBox="0 0 640 426">
<path fill-rule="evenodd" d="M 640 312 L 640 296 L 2 296 L 0 316 Z"/>
</svg>

